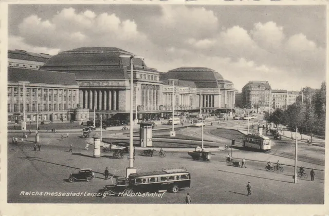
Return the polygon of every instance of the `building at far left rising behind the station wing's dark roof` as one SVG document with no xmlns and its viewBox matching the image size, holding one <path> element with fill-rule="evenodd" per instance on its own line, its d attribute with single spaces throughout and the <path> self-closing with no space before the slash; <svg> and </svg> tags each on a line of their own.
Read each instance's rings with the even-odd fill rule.
<svg viewBox="0 0 329 216">
<path fill-rule="evenodd" d="M 8 67 L 39 69 L 50 57 L 51 55 L 45 53 L 8 50 Z"/>
</svg>

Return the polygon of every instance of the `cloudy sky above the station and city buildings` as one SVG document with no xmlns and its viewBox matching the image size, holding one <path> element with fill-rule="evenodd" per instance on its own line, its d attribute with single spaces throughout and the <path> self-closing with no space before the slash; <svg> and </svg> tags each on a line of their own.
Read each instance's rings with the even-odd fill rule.
<svg viewBox="0 0 329 216">
<path fill-rule="evenodd" d="M 9 5 L 8 49 L 55 55 L 118 47 L 160 72 L 216 70 L 241 92 L 320 88 L 326 80 L 325 6 Z"/>
</svg>

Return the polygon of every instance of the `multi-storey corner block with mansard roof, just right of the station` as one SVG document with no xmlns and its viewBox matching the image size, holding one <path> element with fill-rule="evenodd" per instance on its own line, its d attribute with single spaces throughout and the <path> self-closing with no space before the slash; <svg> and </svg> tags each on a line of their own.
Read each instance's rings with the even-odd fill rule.
<svg viewBox="0 0 329 216">
<path fill-rule="evenodd" d="M 242 106 L 265 110 L 270 106 L 271 86 L 268 81 L 249 81 L 242 88 Z"/>
</svg>

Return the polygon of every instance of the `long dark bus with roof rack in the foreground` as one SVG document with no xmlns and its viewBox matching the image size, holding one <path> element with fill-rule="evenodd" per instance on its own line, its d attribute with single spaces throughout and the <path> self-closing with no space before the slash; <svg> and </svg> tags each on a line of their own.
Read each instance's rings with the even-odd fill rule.
<svg viewBox="0 0 329 216">
<path fill-rule="evenodd" d="M 105 185 L 105 196 L 120 195 L 127 197 L 136 192 L 173 192 L 191 185 L 191 174 L 186 168 L 162 169 L 162 171 L 133 173 L 128 178 L 119 176 L 114 185 Z"/>
</svg>

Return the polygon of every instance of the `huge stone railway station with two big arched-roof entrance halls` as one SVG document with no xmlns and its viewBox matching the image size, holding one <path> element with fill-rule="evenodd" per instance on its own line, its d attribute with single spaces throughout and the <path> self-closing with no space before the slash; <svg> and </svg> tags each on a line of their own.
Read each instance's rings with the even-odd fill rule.
<svg viewBox="0 0 329 216">
<path fill-rule="evenodd" d="M 41 83 L 38 83 L 40 81 L 34 82 L 35 91 L 38 93 L 40 87 L 41 99 L 46 95 L 46 101 L 41 100 L 41 109 L 38 110 L 45 112 L 41 120 L 42 118 L 52 121 L 65 120 L 66 117 L 66 120 L 85 121 L 93 119 L 94 110 L 96 119 L 99 119 L 100 115 L 102 115 L 102 119 L 116 116 L 120 119 L 129 119 L 131 65 L 130 59 L 122 57 L 122 55 L 134 54 L 116 47 L 83 47 L 51 56 L 40 67 L 40 70 L 34 70 L 39 71 L 40 76 L 41 74 L 47 74 L 47 76 L 52 74 Z M 171 116 L 173 105 L 177 112 L 199 112 L 201 104 L 202 112 L 205 113 L 235 107 L 236 90 L 233 83 L 224 80 L 221 74 L 212 69 L 177 68 L 167 73 L 161 73 L 145 65 L 140 58 L 133 59 L 133 67 L 134 119 L 155 120 Z M 53 74 L 61 75 L 54 79 Z M 23 74 L 22 77 L 25 75 Z M 75 82 L 72 81 L 72 78 Z M 28 79 L 25 78 L 25 80 Z M 174 104 L 171 79 L 176 80 Z M 63 80 L 63 82 L 70 80 L 72 83 L 70 86 L 66 86 L 60 82 L 52 83 L 51 80 Z M 8 78 L 8 83 L 10 82 L 12 81 Z M 31 83 L 30 85 L 32 85 Z M 46 86 L 46 84 L 50 86 Z M 12 85 L 10 83 L 10 86 L 14 87 Z M 69 94 L 71 94 L 72 101 L 68 101 Z M 56 102 L 60 100 L 60 97 L 61 100 L 64 100 L 64 95 L 67 103 L 52 102 L 55 96 Z M 45 104 L 46 108 L 43 109 Z M 50 110 L 49 104 L 51 104 Z M 14 112 L 14 108 L 11 108 L 12 105 L 11 103 L 10 112 Z M 31 102 L 28 106 L 31 106 Z M 59 106 L 62 110 L 59 110 Z M 58 113 L 57 116 L 55 113 L 52 114 L 54 107 L 63 112 Z M 31 110 L 33 110 L 32 107 L 29 108 L 29 111 Z M 16 111 L 19 112 L 18 109 Z M 30 115 L 30 119 L 33 120 L 32 115 Z"/>
</svg>

